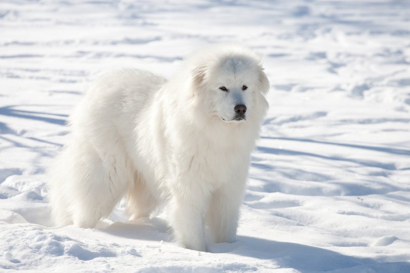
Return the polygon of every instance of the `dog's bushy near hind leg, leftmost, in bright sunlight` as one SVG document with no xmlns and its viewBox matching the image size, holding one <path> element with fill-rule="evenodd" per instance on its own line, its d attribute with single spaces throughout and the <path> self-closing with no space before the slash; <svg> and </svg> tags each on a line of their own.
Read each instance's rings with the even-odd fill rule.
<svg viewBox="0 0 410 273">
<path fill-rule="evenodd" d="M 119 141 L 104 149 L 84 140 L 70 144 L 57 159 L 53 173 L 59 175 L 50 181 L 53 215 L 57 224 L 94 228 L 129 188 L 133 164 Z"/>
</svg>

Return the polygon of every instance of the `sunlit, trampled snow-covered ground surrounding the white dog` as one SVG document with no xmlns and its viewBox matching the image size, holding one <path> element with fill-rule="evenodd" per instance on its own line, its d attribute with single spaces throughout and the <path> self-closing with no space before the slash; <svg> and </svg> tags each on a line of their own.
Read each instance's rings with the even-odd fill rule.
<svg viewBox="0 0 410 273">
<path fill-rule="evenodd" d="M 87 85 L 222 40 L 271 82 L 238 241 L 186 250 L 123 202 L 53 228 L 44 174 Z M 410 272 L 409 64 L 404 0 L 1 0 L 0 272 Z"/>
</svg>

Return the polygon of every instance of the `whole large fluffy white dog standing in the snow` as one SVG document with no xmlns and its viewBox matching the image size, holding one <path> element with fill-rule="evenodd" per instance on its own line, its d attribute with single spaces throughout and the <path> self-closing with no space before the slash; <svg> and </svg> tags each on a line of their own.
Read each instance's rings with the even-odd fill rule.
<svg viewBox="0 0 410 273">
<path fill-rule="evenodd" d="M 234 242 L 250 153 L 268 104 L 261 57 L 205 46 L 170 80 L 123 69 L 95 81 L 68 118 L 49 176 L 56 224 L 93 228 L 125 196 L 132 219 L 165 204 L 176 239 Z"/>
</svg>

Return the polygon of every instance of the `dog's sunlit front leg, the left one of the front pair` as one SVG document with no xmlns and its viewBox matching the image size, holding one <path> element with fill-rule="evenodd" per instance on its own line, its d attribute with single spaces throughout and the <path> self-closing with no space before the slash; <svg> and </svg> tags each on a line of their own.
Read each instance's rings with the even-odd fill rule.
<svg viewBox="0 0 410 273">
<path fill-rule="evenodd" d="M 170 223 L 177 240 L 188 249 L 206 251 L 203 214 L 208 198 L 208 193 L 192 183 L 173 190 Z"/>
</svg>

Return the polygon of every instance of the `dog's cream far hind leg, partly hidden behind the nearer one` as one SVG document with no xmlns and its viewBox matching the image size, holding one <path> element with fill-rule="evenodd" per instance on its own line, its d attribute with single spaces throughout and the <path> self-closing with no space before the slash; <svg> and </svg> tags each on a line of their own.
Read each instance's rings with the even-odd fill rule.
<svg viewBox="0 0 410 273">
<path fill-rule="evenodd" d="M 134 185 L 128 190 L 126 214 L 131 215 L 130 219 L 148 217 L 157 206 L 157 200 L 147 187 L 143 176 L 135 172 Z"/>
</svg>

